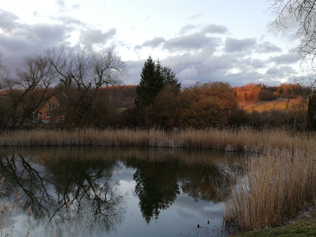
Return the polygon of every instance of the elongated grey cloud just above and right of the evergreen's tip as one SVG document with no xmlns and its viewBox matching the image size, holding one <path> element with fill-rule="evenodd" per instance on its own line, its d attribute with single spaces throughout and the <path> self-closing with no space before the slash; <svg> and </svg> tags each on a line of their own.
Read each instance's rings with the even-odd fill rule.
<svg viewBox="0 0 316 237">
<path fill-rule="evenodd" d="M 166 40 L 163 44 L 163 48 L 170 52 L 175 52 L 198 50 L 207 46 L 209 50 L 215 51 L 220 41 L 221 38 L 206 37 L 202 33 L 193 33 Z"/>
</svg>

